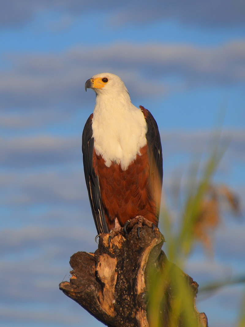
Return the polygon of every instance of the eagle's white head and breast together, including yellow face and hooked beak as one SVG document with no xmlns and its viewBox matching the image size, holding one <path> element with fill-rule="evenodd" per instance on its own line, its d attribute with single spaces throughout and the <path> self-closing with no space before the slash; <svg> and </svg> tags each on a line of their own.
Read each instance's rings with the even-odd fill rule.
<svg viewBox="0 0 245 327">
<path fill-rule="evenodd" d="M 126 170 L 146 145 L 144 115 L 131 103 L 123 81 L 114 74 L 94 75 L 85 88 L 94 89 L 97 95 L 92 121 L 95 151 L 107 167 L 117 163 Z"/>
</svg>

